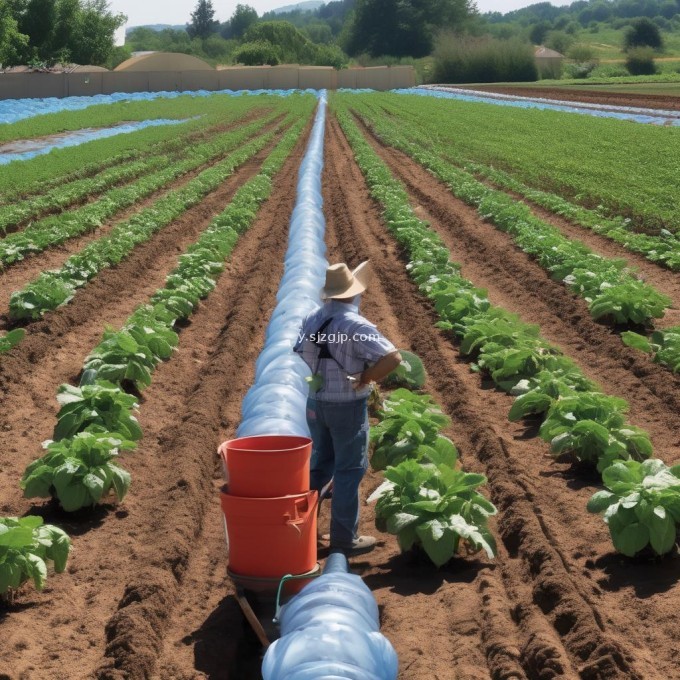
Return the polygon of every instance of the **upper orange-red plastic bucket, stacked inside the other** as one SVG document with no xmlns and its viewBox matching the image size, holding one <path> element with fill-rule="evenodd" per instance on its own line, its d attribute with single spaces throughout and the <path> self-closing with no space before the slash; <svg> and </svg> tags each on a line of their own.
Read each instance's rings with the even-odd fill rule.
<svg viewBox="0 0 680 680">
<path fill-rule="evenodd" d="M 241 437 L 222 443 L 219 453 L 227 470 L 229 493 L 234 496 L 278 498 L 309 491 L 309 437 Z"/>
</svg>

